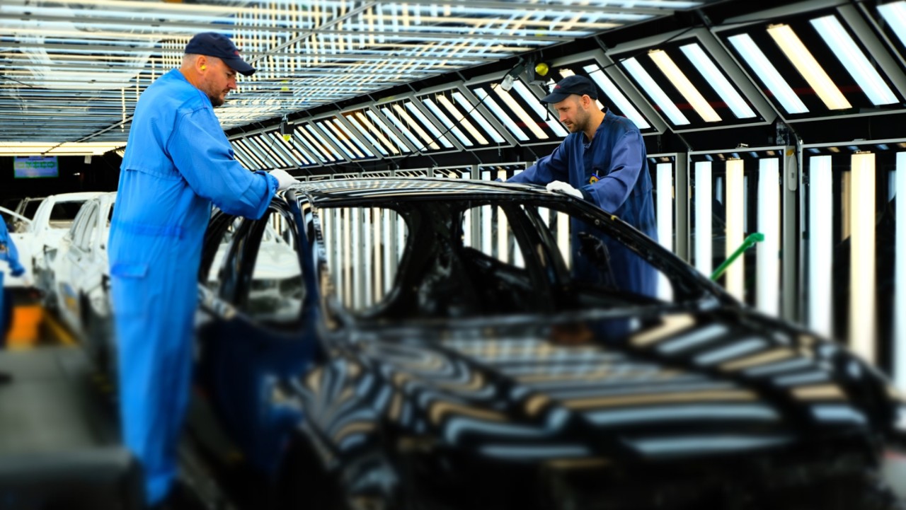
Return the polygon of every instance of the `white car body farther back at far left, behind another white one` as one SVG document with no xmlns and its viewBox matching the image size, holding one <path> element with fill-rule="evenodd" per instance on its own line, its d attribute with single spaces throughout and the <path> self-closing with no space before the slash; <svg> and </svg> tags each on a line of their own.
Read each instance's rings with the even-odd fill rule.
<svg viewBox="0 0 906 510">
<path fill-rule="evenodd" d="M 53 269 L 48 267 L 44 253 L 57 248 L 82 204 L 101 194 L 101 191 L 85 191 L 46 197 L 32 218 L 5 209 L 7 214 L 12 213 L 23 222 L 15 232 L 10 232 L 10 236 L 19 251 L 19 261 L 25 267 L 25 274 L 5 278 L 4 286 L 22 287 L 24 278 L 30 278 L 34 286 L 45 293 L 48 303 L 53 303 Z"/>
</svg>

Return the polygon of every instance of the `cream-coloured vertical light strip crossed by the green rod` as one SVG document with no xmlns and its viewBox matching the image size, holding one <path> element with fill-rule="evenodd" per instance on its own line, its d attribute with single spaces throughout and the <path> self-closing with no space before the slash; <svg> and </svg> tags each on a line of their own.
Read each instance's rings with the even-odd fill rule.
<svg viewBox="0 0 906 510">
<path fill-rule="evenodd" d="M 743 173 L 746 167 L 742 159 L 727 161 L 727 248 L 724 256 L 729 257 L 745 240 L 744 212 L 746 194 L 743 189 Z M 729 265 L 726 274 L 727 292 L 739 301 L 746 298 L 746 256 L 740 255 Z"/>
</svg>

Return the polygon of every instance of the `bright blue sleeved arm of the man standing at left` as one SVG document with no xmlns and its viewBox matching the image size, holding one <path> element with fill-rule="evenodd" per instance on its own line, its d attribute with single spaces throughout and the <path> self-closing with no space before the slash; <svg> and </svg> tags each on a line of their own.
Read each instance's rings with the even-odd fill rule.
<svg viewBox="0 0 906 510">
<path fill-rule="evenodd" d="M 277 179 L 264 171 L 250 172 L 236 161 L 213 111 L 199 109 L 178 118 L 168 149 L 199 196 L 228 214 L 255 219 L 265 214 Z"/>
</svg>

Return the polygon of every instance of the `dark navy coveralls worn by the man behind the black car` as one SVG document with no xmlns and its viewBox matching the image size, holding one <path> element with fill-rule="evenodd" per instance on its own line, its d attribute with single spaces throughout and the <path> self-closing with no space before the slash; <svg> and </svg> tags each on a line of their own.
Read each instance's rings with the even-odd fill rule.
<svg viewBox="0 0 906 510">
<path fill-rule="evenodd" d="M 607 110 L 591 142 L 585 139 L 583 132 L 570 133 L 554 152 L 538 159 L 535 165 L 507 182 L 546 185 L 554 180 L 569 183 L 581 191 L 586 200 L 657 239 L 645 143 L 631 120 Z M 573 263 L 587 270 L 587 261 L 577 253 L 576 230 L 577 226 L 573 224 Z M 616 286 L 655 296 L 657 274 L 654 268 L 609 236 L 603 241 L 610 252 Z"/>
</svg>

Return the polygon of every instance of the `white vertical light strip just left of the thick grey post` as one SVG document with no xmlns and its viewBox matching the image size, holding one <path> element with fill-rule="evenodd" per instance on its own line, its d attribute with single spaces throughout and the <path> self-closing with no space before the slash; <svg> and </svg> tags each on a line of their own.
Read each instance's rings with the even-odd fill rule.
<svg viewBox="0 0 906 510">
<path fill-rule="evenodd" d="M 758 160 L 758 232 L 765 240 L 756 247 L 755 306 L 780 316 L 780 159 Z"/>
</svg>

